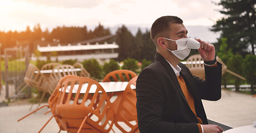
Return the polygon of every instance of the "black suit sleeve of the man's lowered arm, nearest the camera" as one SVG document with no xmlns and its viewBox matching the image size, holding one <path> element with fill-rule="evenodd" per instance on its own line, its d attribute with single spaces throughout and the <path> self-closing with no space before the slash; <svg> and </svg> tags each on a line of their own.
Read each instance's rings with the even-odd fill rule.
<svg viewBox="0 0 256 133">
<path fill-rule="evenodd" d="M 136 83 L 137 118 L 141 133 L 150 132 L 199 132 L 196 123 L 175 123 L 163 121 L 163 86 L 161 74 L 144 69 Z"/>
</svg>

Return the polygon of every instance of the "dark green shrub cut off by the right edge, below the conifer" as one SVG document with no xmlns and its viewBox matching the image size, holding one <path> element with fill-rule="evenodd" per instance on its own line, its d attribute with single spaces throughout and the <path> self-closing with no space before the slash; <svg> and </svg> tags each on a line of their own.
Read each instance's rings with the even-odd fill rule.
<svg viewBox="0 0 256 133">
<path fill-rule="evenodd" d="M 248 83 L 250 83 L 251 93 L 254 94 L 253 85 L 256 84 L 256 56 L 253 54 L 246 55 L 244 59 L 244 75 Z"/>
</svg>

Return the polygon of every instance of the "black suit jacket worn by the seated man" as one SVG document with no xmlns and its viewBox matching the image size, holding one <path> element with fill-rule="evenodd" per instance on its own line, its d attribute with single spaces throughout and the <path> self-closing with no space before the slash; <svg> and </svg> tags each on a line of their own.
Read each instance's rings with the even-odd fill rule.
<svg viewBox="0 0 256 133">
<path fill-rule="evenodd" d="M 204 124 L 208 124 L 201 99 L 220 99 L 221 64 L 205 67 L 205 81 L 192 75 L 184 64 L 178 65 L 193 95 L 196 115 Z M 186 101 L 173 69 L 159 53 L 156 53 L 155 61 L 142 70 L 137 78 L 136 96 L 141 133 L 199 132 L 198 120 Z"/>
</svg>

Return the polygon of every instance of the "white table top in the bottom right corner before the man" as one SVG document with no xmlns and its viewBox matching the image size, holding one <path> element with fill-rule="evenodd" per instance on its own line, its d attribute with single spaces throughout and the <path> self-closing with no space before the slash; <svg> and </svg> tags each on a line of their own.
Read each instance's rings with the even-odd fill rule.
<svg viewBox="0 0 256 133">
<path fill-rule="evenodd" d="M 229 129 L 227 131 L 224 131 L 223 133 L 241 133 L 241 132 L 255 133 L 256 132 L 256 125 L 235 127 L 234 129 Z"/>
</svg>

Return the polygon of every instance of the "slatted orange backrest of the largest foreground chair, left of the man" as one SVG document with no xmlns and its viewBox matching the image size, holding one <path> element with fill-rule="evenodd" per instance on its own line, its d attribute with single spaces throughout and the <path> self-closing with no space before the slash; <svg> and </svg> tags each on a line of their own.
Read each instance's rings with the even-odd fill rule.
<svg viewBox="0 0 256 133">
<path fill-rule="evenodd" d="M 77 132 L 85 117 L 82 132 L 109 132 L 112 129 L 115 112 L 108 95 L 96 80 L 79 76 L 68 78 L 63 81 L 61 89 L 56 115 L 66 131 Z M 89 93 L 91 89 L 95 90 L 94 94 Z"/>
</svg>

